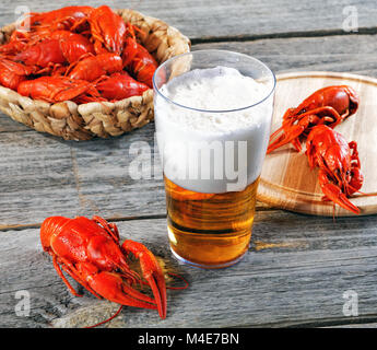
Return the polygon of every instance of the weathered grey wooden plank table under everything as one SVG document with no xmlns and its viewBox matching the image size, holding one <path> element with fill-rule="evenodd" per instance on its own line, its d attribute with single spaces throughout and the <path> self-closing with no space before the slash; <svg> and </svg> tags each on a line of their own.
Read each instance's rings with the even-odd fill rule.
<svg viewBox="0 0 377 350">
<path fill-rule="evenodd" d="M 22 5 L 45 11 L 76 3 L 4 0 L 0 23 L 13 22 Z M 353 8 L 349 0 L 106 3 L 166 21 L 191 38 L 193 50 L 245 52 L 275 73 L 329 70 L 377 77 L 375 0 Z M 358 32 L 346 32 L 352 24 Z M 72 296 L 42 253 L 39 224 L 58 214 L 116 221 L 123 237 L 145 243 L 168 271 L 190 283 L 187 290 L 168 291 L 165 320 L 156 312 L 126 307 L 108 327 L 376 325 L 377 215 L 334 222 L 258 203 L 244 260 L 222 270 L 179 265 L 168 248 L 162 178 L 133 180 L 129 174 L 134 158 L 129 145 L 140 141 L 153 151 L 153 132 L 151 124 L 119 138 L 78 143 L 0 116 L 1 327 L 82 327 L 116 310 L 89 293 Z M 23 291 L 31 298 L 28 315 L 17 308 Z"/>
</svg>

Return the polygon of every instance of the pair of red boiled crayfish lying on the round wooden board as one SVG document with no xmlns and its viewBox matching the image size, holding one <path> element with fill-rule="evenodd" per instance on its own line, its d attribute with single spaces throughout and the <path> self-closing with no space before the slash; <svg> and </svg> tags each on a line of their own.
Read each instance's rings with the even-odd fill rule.
<svg viewBox="0 0 377 350">
<path fill-rule="evenodd" d="M 346 142 L 333 128 L 356 113 L 358 102 L 356 92 L 347 85 L 316 91 L 297 107 L 285 112 L 282 126 L 271 135 L 267 150 L 271 153 L 292 143 L 301 152 L 302 141 L 306 139 L 305 153 L 309 166 L 319 167 L 318 180 L 323 200 L 331 200 L 356 214 L 361 210 L 349 197 L 361 192 L 364 182 L 357 143 Z"/>
</svg>

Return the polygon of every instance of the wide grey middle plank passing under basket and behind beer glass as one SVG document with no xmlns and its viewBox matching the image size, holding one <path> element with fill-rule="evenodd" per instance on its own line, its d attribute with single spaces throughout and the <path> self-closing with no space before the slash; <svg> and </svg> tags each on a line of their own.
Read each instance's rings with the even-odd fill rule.
<svg viewBox="0 0 377 350">
<path fill-rule="evenodd" d="M 231 49 L 256 56 L 276 73 L 310 69 L 355 71 L 377 77 L 376 35 L 195 46 L 195 49 L 203 48 Z M 129 167 L 136 159 L 134 154 L 129 154 L 133 142 L 146 142 L 140 144 L 141 149 L 153 153 L 153 124 L 119 138 L 80 143 L 33 130 L 9 131 L 2 132 L 0 139 L 0 164 L 7 170 L 0 175 L 2 229 L 40 223 L 52 214 L 97 213 L 108 218 L 165 214 L 162 179 L 133 180 L 129 176 Z M 158 158 L 156 161 L 158 164 Z M 149 171 L 146 165 L 145 172 Z"/>
</svg>

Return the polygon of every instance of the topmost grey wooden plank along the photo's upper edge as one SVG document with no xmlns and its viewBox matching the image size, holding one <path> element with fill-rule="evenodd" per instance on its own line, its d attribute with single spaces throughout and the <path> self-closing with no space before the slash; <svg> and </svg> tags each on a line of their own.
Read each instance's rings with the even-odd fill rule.
<svg viewBox="0 0 377 350">
<path fill-rule="evenodd" d="M 86 5 L 98 7 L 102 0 L 87 0 Z M 22 7 L 32 11 L 48 11 L 62 5 L 78 4 L 74 0 L 20 0 L 16 3 L 4 0 L 0 4 L 0 23 L 8 24 L 20 16 Z M 113 8 L 125 8 L 158 18 L 176 26 L 192 39 L 219 37 L 258 37 L 271 35 L 297 35 L 297 33 L 326 34 L 331 31 L 341 33 L 347 16 L 356 15 L 357 26 L 375 27 L 377 8 L 374 0 L 357 2 L 350 8 L 349 0 L 328 2 L 310 0 L 274 0 L 274 1 L 201 1 L 201 0 L 165 0 L 137 1 L 127 3 L 106 1 Z M 351 3 L 352 4 L 352 3 Z M 15 13 L 19 11 L 19 13 Z M 314 20 L 315 16 L 315 20 Z M 351 23 L 352 24 L 352 23 Z"/>
</svg>

